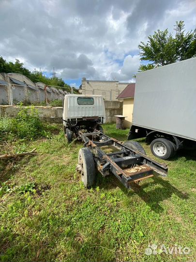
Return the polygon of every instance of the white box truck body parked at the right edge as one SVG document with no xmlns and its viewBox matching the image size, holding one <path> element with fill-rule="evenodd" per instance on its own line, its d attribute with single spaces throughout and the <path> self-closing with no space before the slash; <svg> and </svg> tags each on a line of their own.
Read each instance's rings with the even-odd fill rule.
<svg viewBox="0 0 196 262">
<path fill-rule="evenodd" d="M 196 57 L 136 74 L 129 139 L 141 136 L 166 138 L 174 150 L 196 141 Z"/>
</svg>

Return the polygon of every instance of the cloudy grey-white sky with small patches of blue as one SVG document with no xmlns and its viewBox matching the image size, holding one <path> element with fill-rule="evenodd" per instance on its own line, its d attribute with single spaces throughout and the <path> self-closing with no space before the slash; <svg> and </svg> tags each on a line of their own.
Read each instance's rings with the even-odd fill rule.
<svg viewBox="0 0 196 262">
<path fill-rule="evenodd" d="M 195 28 L 196 0 L 0 0 L 0 55 L 75 86 L 131 82 L 140 41 L 177 20 Z"/>
</svg>

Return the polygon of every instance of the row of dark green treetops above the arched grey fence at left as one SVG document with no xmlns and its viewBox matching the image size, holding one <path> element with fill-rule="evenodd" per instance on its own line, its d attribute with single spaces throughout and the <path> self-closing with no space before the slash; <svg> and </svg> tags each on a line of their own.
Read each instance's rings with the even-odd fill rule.
<svg viewBox="0 0 196 262">
<path fill-rule="evenodd" d="M 43 82 L 47 85 L 55 85 L 66 87 L 67 91 L 71 90 L 70 85 L 66 84 L 61 78 L 58 77 L 46 77 L 42 72 L 34 69 L 33 72 L 30 72 L 27 68 L 24 67 L 23 63 L 20 63 L 18 59 L 15 59 L 15 63 L 7 62 L 0 56 L 0 72 L 3 73 L 20 73 L 28 77 L 32 82 Z"/>
</svg>

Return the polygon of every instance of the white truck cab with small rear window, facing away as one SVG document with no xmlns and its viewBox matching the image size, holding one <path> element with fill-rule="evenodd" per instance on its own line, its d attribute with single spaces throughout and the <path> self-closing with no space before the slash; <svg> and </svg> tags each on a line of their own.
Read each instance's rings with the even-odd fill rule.
<svg viewBox="0 0 196 262">
<path fill-rule="evenodd" d="M 63 126 L 69 142 L 78 130 L 101 131 L 106 122 L 104 99 L 97 95 L 65 95 L 63 99 Z"/>
</svg>

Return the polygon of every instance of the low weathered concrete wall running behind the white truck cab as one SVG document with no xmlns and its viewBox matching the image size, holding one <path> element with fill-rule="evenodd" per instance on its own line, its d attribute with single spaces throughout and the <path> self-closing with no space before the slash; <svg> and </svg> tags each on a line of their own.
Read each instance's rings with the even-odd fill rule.
<svg viewBox="0 0 196 262">
<path fill-rule="evenodd" d="M 114 115 L 122 115 L 122 102 L 105 101 L 106 123 L 114 122 Z M 48 122 L 62 122 L 62 107 L 35 106 L 41 120 Z M 0 105 L 0 116 L 15 117 L 20 111 L 18 106 Z"/>
</svg>

